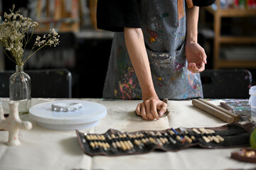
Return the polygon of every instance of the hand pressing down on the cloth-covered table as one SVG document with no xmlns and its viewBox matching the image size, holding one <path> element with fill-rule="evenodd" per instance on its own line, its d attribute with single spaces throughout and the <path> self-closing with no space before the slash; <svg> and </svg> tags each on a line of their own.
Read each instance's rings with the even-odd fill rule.
<svg viewBox="0 0 256 170">
<path fill-rule="evenodd" d="M 137 115 L 141 115 L 144 120 L 159 119 L 166 112 L 167 104 L 160 101 L 158 97 L 151 96 L 139 103 L 136 108 Z M 159 111 L 159 114 L 157 113 Z"/>
</svg>

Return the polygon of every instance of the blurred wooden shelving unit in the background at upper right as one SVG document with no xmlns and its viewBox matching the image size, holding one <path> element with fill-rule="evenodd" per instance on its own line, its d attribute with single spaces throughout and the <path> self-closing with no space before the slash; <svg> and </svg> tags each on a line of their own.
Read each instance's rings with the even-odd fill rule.
<svg viewBox="0 0 256 170">
<path fill-rule="evenodd" d="M 213 43 L 213 69 L 220 68 L 256 68 L 256 56 L 255 60 L 226 60 L 220 58 L 221 45 L 249 45 L 256 43 L 256 37 L 249 36 L 233 36 L 233 35 L 221 35 L 222 18 L 233 17 L 255 17 L 256 9 L 242 9 L 242 8 L 221 8 L 220 0 L 215 2 L 217 8 L 213 10 L 212 6 L 206 7 L 206 11 L 213 15 L 213 30 L 215 32 Z M 245 26 L 244 26 L 245 27 Z"/>
</svg>

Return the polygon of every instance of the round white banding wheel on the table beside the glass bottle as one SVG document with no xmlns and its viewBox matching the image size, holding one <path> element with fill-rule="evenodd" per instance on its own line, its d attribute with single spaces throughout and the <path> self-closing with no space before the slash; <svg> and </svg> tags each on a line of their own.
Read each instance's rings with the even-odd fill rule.
<svg viewBox="0 0 256 170">
<path fill-rule="evenodd" d="M 55 103 L 81 103 L 78 111 L 52 111 Z M 80 100 L 48 101 L 40 103 L 29 109 L 29 118 L 36 121 L 42 128 L 52 130 L 82 130 L 91 128 L 107 115 L 107 108 L 99 103 Z"/>
</svg>

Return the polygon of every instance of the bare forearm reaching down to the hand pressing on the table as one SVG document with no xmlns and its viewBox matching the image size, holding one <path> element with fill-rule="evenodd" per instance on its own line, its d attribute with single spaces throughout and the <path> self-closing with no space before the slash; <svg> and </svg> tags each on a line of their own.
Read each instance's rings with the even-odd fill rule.
<svg viewBox="0 0 256 170">
<path fill-rule="evenodd" d="M 142 89 L 142 99 L 146 100 L 150 96 L 156 96 L 142 30 L 140 28 L 124 28 L 124 39 Z"/>
</svg>

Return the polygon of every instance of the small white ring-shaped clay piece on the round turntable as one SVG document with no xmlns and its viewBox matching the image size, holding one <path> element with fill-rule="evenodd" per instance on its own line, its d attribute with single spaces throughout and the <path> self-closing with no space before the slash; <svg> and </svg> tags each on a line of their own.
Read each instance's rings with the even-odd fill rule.
<svg viewBox="0 0 256 170">
<path fill-rule="evenodd" d="M 82 108 L 81 103 L 53 103 L 52 111 L 58 112 L 68 112 L 68 111 L 78 111 Z"/>
</svg>

